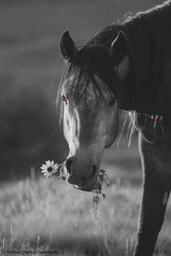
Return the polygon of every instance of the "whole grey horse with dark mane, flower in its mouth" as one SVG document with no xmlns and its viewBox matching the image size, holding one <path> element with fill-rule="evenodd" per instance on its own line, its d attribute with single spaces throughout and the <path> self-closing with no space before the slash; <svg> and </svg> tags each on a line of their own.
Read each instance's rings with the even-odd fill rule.
<svg viewBox="0 0 171 256">
<path fill-rule="evenodd" d="M 171 1 L 107 26 L 79 49 L 65 31 L 60 53 L 66 182 L 92 191 L 103 151 L 118 135 L 119 110 L 128 111 L 143 172 L 134 256 L 152 256 L 171 189 Z"/>
</svg>

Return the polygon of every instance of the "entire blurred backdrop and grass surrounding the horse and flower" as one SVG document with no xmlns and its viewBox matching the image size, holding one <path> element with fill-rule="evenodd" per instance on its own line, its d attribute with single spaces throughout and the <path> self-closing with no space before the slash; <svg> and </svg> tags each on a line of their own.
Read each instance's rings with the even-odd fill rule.
<svg viewBox="0 0 171 256">
<path fill-rule="evenodd" d="M 127 11 L 136 13 L 159 3 L 162 1 L 1 0 L 1 248 L 3 244 L 27 249 L 49 246 L 61 250 L 60 255 L 81 256 L 98 255 L 102 245 L 106 255 L 115 251 L 120 256 L 131 248 L 131 240 L 135 242 L 142 174 L 136 132 L 131 148 L 123 147 L 128 124 L 119 150 L 117 139 L 102 158 L 101 167 L 111 185 L 105 188 L 106 205 L 100 205 L 110 226 L 105 236 L 103 228 L 99 231 L 86 219 L 93 207 L 91 193 L 75 191 L 53 176 L 43 178 L 40 166 L 46 160 L 61 163 L 69 152 L 55 106 L 65 69 L 58 51 L 63 31 L 69 30 L 81 46 Z M 121 119 L 119 131 L 122 125 Z M 158 251 L 170 237 L 171 218 L 167 215 Z M 161 255 L 169 255 L 167 247 L 169 242 Z"/>
</svg>

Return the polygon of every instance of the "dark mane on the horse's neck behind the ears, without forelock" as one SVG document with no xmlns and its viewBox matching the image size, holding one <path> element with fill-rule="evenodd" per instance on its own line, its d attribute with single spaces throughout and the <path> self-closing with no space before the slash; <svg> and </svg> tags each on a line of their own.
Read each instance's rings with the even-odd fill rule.
<svg viewBox="0 0 171 256">
<path fill-rule="evenodd" d="M 127 37 L 130 70 L 127 84 L 123 87 L 130 98 L 130 104 L 124 106 L 122 103 L 122 109 L 144 113 L 146 107 L 147 113 L 159 114 L 165 112 L 166 106 L 169 106 L 166 95 L 171 94 L 170 77 L 167 77 L 167 65 L 168 68 L 171 66 L 170 28 L 171 1 L 166 1 L 148 11 L 130 15 L 124 21 L 107 26 L 86 43 L 102 43 L 110 49 L 119 31 Z M 155 110 L 152 109 L 154 102 Z"/>
</svg>

